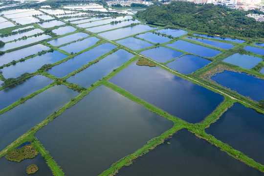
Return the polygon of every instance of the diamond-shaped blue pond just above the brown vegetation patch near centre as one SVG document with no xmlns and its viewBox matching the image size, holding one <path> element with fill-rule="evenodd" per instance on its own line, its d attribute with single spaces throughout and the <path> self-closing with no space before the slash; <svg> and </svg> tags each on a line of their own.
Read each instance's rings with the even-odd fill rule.
<svg viewBox="0 0 264 176">
<path fill-rule="evenodd" d="M 176 51 L 171 48 L 166 48 L 163 46 L 154 47 L 145 51 L 140 52 L 140 54 L 147 56 L 159 63 L 165 63 L 176 57 L 182 55 L 182 52 Z"/>
</svg>

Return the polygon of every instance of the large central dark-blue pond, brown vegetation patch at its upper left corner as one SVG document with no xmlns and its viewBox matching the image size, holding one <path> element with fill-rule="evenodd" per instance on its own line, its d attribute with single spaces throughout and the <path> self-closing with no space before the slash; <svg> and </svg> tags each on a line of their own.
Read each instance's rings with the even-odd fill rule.
<svg viewBox="0 0 264 176">
<path fill-rule="evenodd" d="M 187 122 L 197 123 L 223 101 L 223 96 L 158 67 L 126 67 L 110 82 Z"/>
</svg>

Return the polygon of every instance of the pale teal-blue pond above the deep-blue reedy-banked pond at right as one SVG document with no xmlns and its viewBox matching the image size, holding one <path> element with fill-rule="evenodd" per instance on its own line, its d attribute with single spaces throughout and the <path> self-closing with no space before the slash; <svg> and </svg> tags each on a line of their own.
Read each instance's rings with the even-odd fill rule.
<svg viewBox="0 0 264 176">
<path fill-rule="evenodd" d="M 233 54 L 223 60 L 223 62 L 234 64 L 245 69 L 251 69 L 261 61 L 262 59 L 259 57 L 239 53 Z"/>
</svg>

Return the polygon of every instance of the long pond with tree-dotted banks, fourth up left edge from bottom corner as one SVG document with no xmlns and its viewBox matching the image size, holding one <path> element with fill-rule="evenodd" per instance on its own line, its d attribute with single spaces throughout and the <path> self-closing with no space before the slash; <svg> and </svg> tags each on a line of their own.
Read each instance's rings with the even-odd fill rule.
<svg viewBox="0 0 264 176">
<path fill-rule="evenodd" d="M 21 74 L 27 72 L 27 73 L 33 73 L 37 71 L 41 66 L 45 64 L 53 64 L 56 63 L 64 58 L 66 58 L 65 54 L 62 54 L 59 51 L 53 51 L 48 52 L 42 55 L 38 55 L 36 57 L 30 58 L 25 60 L 24 62 L 19 62 L 15 65 L 3 67 L 2 75 L 4 78 L 16 78 L 20 76 Z"/>
</svg>

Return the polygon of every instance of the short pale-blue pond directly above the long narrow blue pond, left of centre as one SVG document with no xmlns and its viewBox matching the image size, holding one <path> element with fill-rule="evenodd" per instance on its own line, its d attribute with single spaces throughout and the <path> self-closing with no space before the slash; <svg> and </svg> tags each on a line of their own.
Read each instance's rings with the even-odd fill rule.
<svg viewBox="0 0 264 176">
<path fill-rule="evenodd" d="M 77 52 L 80 52 L 80 51 L 94 45 L 98 41 L 99 41 L 99 39 L 96 37 L 89 37 L 89 38 L 84 39 L 82 41 L 77 41 L 77 42 L 62 46 L 62 47 L 60 47 L 60 49 L 67 51 L 68 53 L 71 53 L 71 52 L 77 53 Z"/>
</svg>

